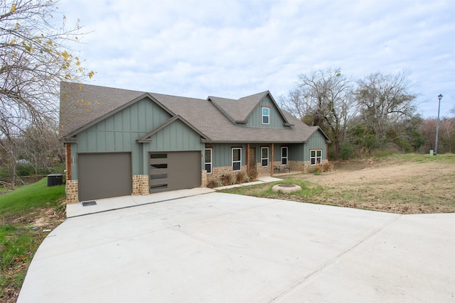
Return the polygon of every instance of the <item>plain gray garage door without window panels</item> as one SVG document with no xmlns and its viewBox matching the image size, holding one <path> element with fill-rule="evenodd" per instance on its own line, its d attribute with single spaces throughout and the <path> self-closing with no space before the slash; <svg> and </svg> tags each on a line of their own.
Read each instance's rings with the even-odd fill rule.
<svg viewBox="0 0 455 303">
<path fill-rule="evenodd" d="M 79 201 L 132 194 L 130 153 L 78 155 Z"/>
</svg>

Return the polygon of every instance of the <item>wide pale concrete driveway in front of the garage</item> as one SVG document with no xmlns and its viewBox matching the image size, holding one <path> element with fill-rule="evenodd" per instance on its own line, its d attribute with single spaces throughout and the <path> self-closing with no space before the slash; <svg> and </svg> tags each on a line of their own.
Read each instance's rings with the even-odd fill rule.
<svg viewBox="0 0 455 303">
<path fill-rule="evenodd" d="M 18 302 L 454 302 L 455 214 L 213 192 L 77 216 Z"/>
</svg>

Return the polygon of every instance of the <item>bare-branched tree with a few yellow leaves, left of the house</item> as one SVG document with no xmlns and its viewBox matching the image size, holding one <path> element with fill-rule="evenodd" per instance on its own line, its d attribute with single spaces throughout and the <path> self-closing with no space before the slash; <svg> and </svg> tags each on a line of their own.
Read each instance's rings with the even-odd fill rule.
<svg viewBox="0 0 455 303">
<path fill-rule="evenodd" d="M 0 148 L 7 150 L 5 143 L 28 126 L 55 121 L 60 81 L 93 75 L 69 46 L 82 35 L 79 24 L 67 29 L 63 18 L 60 28 L 53 26 L 57 4 L 0 0 Z"/>
</svg>

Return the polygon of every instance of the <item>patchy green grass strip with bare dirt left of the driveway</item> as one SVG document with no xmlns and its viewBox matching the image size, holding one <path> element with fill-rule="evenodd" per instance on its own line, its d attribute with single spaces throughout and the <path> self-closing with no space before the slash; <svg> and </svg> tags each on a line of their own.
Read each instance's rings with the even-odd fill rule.
<svg viewBox="0 0 455 303">
<path fill-rule="evenodd" d="M 16 302 L 28 265 L 49 228 L 63 218 L 65 186 L 43 179 L 0 194 L 0 301 Z"/>
</svg>

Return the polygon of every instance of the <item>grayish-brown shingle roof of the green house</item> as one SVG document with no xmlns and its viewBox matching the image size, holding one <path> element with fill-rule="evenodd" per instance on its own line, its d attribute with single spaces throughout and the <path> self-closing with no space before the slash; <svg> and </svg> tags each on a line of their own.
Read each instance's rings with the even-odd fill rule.
<svg viewBox="0 0 455 303">
<path fill-rule="evenodd" d="M 166 121 L 165 123 L 171 123 L 176 119 L 181 120 L 198 132 L 203 142 L 303 143 L 308 140 L 314 131 L 319 129 L 317 126 L 307 126 L 291 114 L 281 110 L 280 113 L 284 121 L 287 121 L 292 127 L 246 128 L 245 126 L 232 123 L 232 119 L 246 119 L 259 101 L 267 94 L 272 97 L 267 91 L 233 100 L 237 104 L 222 106 L 224 109 L 222 111 L 219 108 L 219 104 L 230 102 L 232 99 L 215 97 L 215 102 L 218 104 L 218 106 L 215 106 L 212 99 L 214 97 L 195 99 L 166 94 L 136 92 L 127 89 L 99 87 L 90 84 L 62 82 L 60 85 L 60 136 L 65 138 L 75 136 L 95 123 L 144 98 L 154 101 L 173 117 L 171 119 L 172 121 Z M 239 109 L 242 109 L 241 106 L 238 106 L 239 104 L 245 104 L 245 112 L 247 114 L 240 114 L 238 112 Z M 149 132 L 149 136 L 154 131 L 156 131 L 156 128 Z M 138 140 L 146 140 L 146 135 L 147 133 L 144 133 Z M 326 139 L 328 140 L 327 137 Z"/>
</svg>

